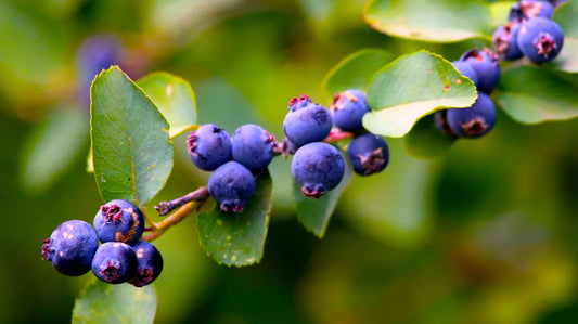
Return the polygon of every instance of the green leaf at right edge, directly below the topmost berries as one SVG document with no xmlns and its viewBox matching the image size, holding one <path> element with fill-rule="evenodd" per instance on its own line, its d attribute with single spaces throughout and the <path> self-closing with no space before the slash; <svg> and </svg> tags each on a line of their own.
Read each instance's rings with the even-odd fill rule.
<svg viewBox="0 0 578 324">
<path fill-rule="evenodd" d="M 524 66 L 502 74 L 498 103 L 524 124 L 578 117 L 578 87 L 554 72 Z"/>
</svg>

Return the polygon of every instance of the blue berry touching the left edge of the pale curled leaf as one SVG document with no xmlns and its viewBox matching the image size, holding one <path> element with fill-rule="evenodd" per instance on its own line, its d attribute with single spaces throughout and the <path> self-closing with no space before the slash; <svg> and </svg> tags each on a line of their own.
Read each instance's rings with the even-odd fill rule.
<svg viewBox="0 0 578 324">
<path fill-rule="evenodd" d="M 343 131 L 356 132 L 363 129 L 361 119 L 370 111 L 365 93 L 360 90 L 346 90 L 333 96 L 330 106 L 333 124 Z"/>
</svg>

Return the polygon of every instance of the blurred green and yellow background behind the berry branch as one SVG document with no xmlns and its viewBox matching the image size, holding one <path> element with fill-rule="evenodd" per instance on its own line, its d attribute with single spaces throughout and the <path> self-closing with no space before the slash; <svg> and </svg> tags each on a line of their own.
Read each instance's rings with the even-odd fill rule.
<svg viewBox="0 0 578 324">
<path fill-rule="evenodd" d="M 120 66 L 134 79 L 166 70 L 190 81 L 200 124 L 232 132 L 255 122 L 278 139 L 288 100 L 308 93 L 327 105 L 324 76 L 357 50 L 398 56 L 426 49 L 452 61 L 485 44 L 389 38 L 363 22 L 363 4 L 0 1 L 0 323 L 66 323 L 91 280 L 64 277 L 40 260 L 42 238 L 57 224 L 91 222 L 102 204 L 85 170 L 89 116 L 78 93 L 88 90 L 78 89 L 87 85 L 75 64 L 87 37 L 121 39 Z M 187 219 L 155 242 L 165 259 L 156 321 L 578 323 L 578 120 L 527 126 L 503 112 L 498 118 L 487 137 L 458 141 L 432 161 L 389 140 L 390 165 L 354 177 L 323 239 L 297 223 L 290 161 L 277 158 L 260 264 L 217 265 L 198 245 L 196 218 Z M 49 138 L 39 139 L 44 129 Z M 75 140 L 61 143 L 63 137 Z M 175 139 L 178 176 L 153 203 L 206 183 L 184 141 Z M 46 146 L 29 155 L 35 145 Z M 34 157 L 47 158 L 54 174 Z"/>
</svg>

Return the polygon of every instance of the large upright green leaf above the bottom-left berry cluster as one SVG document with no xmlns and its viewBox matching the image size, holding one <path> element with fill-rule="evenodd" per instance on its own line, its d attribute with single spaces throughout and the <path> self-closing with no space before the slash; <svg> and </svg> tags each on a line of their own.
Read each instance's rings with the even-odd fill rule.
<svg viewBox="0 0 578 324">
<path fill-rule="evenodd" d="M 167 121 L 118 66 L 97 76 L 91 100 L 90 134 L 101 197 L 145 204 L 172 169 Z"/>
</svg>

